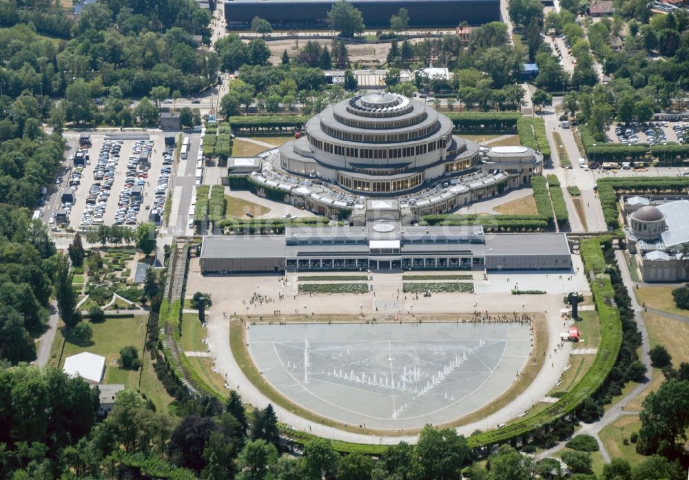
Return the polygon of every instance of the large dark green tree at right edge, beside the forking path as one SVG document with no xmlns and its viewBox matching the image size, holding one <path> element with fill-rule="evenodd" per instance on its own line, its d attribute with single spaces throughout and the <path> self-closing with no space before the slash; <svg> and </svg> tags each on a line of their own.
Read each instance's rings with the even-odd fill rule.
<svg viewBox="0 0 689 480">
<path fill-rule="evenodd" d="M 646 397 L 637 452 L 675 458 L 687 441 L 689 382 L 670 379 Z"/>
</svg>

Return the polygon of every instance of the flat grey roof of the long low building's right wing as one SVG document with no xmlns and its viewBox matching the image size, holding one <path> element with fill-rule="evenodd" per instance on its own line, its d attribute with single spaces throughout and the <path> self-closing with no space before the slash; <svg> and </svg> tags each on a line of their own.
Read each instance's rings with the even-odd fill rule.
<svg viewBox="0 0 689 480">
<path fill-rule="evenodd" d="M 486 235 L 489 255 L 569 255 L 564 233 L 496 233 Z"/>
</svg>

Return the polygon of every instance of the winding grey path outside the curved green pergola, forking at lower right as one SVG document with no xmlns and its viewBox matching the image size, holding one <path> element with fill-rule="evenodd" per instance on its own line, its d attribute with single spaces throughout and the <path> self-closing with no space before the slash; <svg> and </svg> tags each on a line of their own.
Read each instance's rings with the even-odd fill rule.
<svg viewBox="0 0 689 480">
<path fill-rule="evenodd" d="M 650 381 L 653 378 L 653 369 L 650 365 L 650 357 L 648 356 L 648 351 L 650 350 L 650 344 L 648 342 L 648 333 L 646 332 L 646 324 L 644 323 L 644 317 L 641 315 L 641 311 L 643 311 L 643 309 L 641 309 L 641 306 L 639 306 L 639 304 L 637 303 L 637 298 L 634 295 L 634 282 L 629 276 L 627 264 L 624 261 L 624 253 L 620 250 L 615 251 L 615 258 L 617 258 L 619 270 L 622 273 L 622 282 L 624 283 L 624 286 L 627 287 L 628 293 L 630 293 L 630 298 L 632 300 L 632 308 L 634 310 L 634 318 L 637 322 L 637 326 L 639 327 L 639 332 L 641 332 L 641 362 L 643 362 L 644 365 L 646 365 L 646 368 L 648 369 L 648 372 L 646 373 L 646 378 L 648 379 L 648 381 L 643 384 L 637 385 L 636 388 L 634 388 L 634 390 L 632 390 L 624 398 L 619 400 L 615 405 L 610 407 L 610 409 L 608 409 L 608 411 L 603 415 L 603 417 L 601 417 L 599 421 L 595 422 L 594 424 L 584 424 L 582 428 L 577 430 L 576 435 L 588 434 L 592 437 L 595 437 L 601 448 L 601 455 L 606 463 L 610 463 L 610 455 L 608 454 L 608 451 L 606 450 L 603 442 L 598 436 L 599 432 L 603 430 L 603 428 L 605 428 L 606 426 L 613 424 L 613 422 L 617 421 L 617 419 L 619 419 L 619 417 L 623 415 L 634 415 L 635 413 L 638 413 L 635 410 L 625 410 L 625 407 L 630 403 L 630 401 L 641 395 L 641 393 L 643 393 L 644 390 L 648 388 L 648 386 L 650 385 Z M 539 453 L 539 455 L 537 455 L 536 458 L 542 459 L 550 457 L 558 450 L 564 448 L 566 443 L 567 440 L 561 441 L 559 444 L 557 444 L 550 450 L 546 450 L 544 452 Z"/>
</svg>

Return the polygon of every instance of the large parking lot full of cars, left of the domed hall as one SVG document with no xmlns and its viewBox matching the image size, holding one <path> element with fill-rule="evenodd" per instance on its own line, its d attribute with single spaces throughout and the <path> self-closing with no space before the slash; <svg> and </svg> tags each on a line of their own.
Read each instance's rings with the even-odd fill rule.
<svg viewBox="0 0 689 480">
<path fill-rule="evenodd" d="M 172 167 L 172 149 L 165 153 L 163 134 L 93 134 L 91 140 L 85 165 L 73 166 L 60 185 L 60 193 L 75 189 L 72 205 L 60 205 L 70 211 L 69 226 L 134 227 L 156 209 L 162 215 Z M 142 158 L 145 152 L 150 152 L 148 161 Z"/>
</svg>

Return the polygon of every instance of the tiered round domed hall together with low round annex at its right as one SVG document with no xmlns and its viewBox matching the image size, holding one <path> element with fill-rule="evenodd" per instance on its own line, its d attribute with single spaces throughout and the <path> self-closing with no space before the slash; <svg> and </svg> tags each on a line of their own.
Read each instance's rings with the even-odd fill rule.
<svg viewBox="0 0 689 480">
<path fill-rule="evenodd" d="M 395 196 L 435 179 L 466 174 L 480 163 L 477 143 L 452 134 L 453 123 L 422 102 L 371 93 L 331 105 L 308 121 L 307 135 L 280 147 L 280 168 L 320 178 L 364 196 Z M 539 174 L 533 149 L 493 149 L 487 167 L 528 167 L 524 182 Z M 512 158 L 514 157 L 514 158 Z"/>
</svg>

